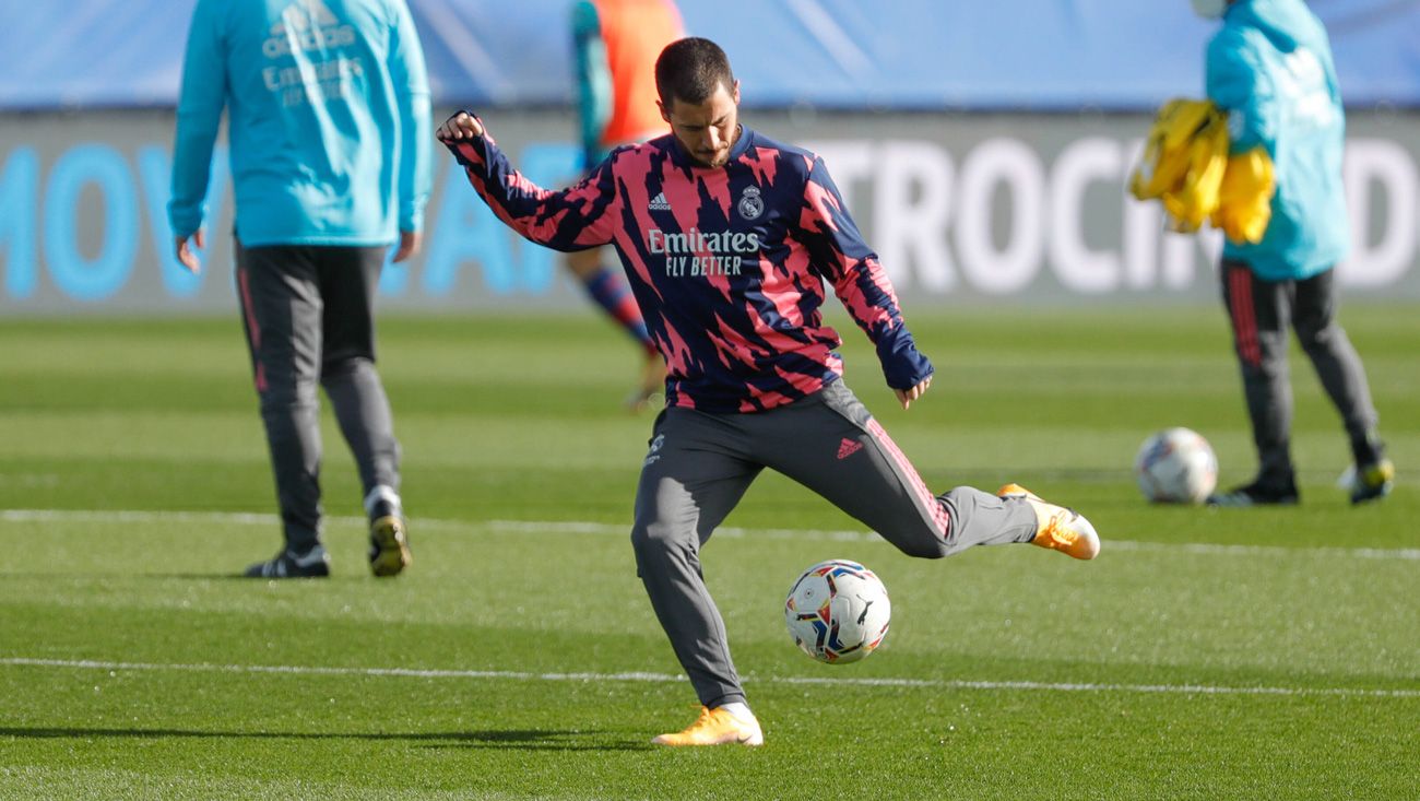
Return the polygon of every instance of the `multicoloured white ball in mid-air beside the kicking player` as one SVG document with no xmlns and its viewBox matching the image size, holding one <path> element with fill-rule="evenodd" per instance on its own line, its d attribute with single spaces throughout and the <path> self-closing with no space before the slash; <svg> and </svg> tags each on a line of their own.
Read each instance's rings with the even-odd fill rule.
<svg viewBox="0 0 1420 801">
<path fill-rule="evenodd" d="M 784 601 L 784 621 L 819 662 L 845 665 L 872 653 L 888 636 L 888 588 L 858 562 L 829 560 L 804 571 Z"/>
</svg>

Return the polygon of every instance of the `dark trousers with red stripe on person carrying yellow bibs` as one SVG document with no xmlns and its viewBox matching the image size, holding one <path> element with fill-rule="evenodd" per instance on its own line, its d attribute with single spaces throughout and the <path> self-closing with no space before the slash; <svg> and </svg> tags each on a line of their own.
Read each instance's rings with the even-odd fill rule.
<svg viewBox="0 0 1420 801">
<path fill-rule="evenodd" d="M 1375 463 L 1380 457 L 1370 436 L 1376 408 L 1360 356 L 1336 324 L 1335 270 L 1301 281 L 1264 281 L 1245 263 L 1224 260 L 1220 273 L 1257 445 L 1257 481 L 1277 490 L 1295 489 L 1288 324 L 1340 413 L 1356 464 Z"/>
</svg>

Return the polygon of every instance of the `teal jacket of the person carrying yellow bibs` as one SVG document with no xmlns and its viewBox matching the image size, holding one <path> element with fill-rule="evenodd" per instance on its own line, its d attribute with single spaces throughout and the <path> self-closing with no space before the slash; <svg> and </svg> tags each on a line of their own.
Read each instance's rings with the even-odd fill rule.
<svg viewBox="0 0 1420 801">
<path fill-rule="evenodd" d="M 1345 258 L 1346 118 L 1321 20 L 1302 0 L 1238 0 L 1208 43 L 1207 95 L 1228 112 L 1231 151 L 1261 145 L 1277 173 L 1262 241 L 1228 241 L 1224 258 L 1269 281 L 1306 278 Z"/>
</svg>

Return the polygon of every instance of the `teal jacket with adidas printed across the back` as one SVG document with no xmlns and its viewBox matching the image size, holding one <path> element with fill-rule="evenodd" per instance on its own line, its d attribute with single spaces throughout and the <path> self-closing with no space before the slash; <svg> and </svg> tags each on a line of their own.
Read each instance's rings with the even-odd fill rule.
<svg viewBox="0 0 1420 801">
<path fill-rule="evenodd" d="M 197 1 L 168 205 L 176 236 L 203 224 L 223 109 L 244 246 L 379 246 L 423 227 L 429 78 L 405 0 Z"/>
</svg>

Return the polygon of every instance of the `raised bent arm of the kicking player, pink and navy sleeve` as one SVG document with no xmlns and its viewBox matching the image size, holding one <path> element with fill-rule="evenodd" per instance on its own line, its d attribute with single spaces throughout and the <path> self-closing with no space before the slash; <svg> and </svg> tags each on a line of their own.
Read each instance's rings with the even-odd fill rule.
<svg viewBox="0 0 1420 801">
<path fill-rule="evenodd" d="M 466 111 L 450 116 L 436 135 L 493 213 L 530 241 L 586 250 L 612 240 L 618 202 L 611 160 L 581 183 L 552 192 L 513 169 L 483 122 Z"/>
</svg>

